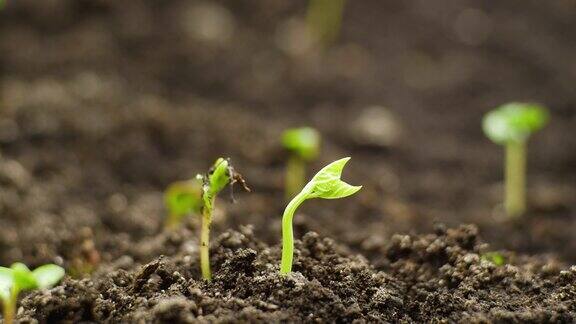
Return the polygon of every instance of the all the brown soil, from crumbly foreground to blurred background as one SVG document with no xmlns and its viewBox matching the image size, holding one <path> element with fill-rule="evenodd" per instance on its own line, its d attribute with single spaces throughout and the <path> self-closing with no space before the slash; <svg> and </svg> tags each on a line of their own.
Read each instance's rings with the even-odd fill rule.
<svg viewBox="0 0 576 324">
<path fill-rule="evenodd" d="M 70 275 L 24 296 L 20 320 L 575 321 L 574 3 L 350 1 L 322 54 L 305 4 L 8 1 L 0 264 Z M 479 125 L 510 100 L 553 116 L 519 220 Z M 364 187 L 301 208 L 283 278 L 278 138 L 298 125 L 323 134 L 311 170 L 351 156 L 344 178 Z M 222 155 L 253 192 L 218 200 L 205 283 L 198 220 L 163 231 L 162 192 Z"/>
</svg>

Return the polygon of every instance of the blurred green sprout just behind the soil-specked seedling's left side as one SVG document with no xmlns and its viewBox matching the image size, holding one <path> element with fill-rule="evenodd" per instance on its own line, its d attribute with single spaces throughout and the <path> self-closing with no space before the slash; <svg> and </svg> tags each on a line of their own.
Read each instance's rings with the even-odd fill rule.
<svg viewBox="0 0 576 324">
<path fill-rule="evenodd" d="M 172 183 L 164 194 L 168 209 L 165 227 L 175 228 L 189 215 L 202 213 L 202 181 L 198 178 Z"/>
</svg>

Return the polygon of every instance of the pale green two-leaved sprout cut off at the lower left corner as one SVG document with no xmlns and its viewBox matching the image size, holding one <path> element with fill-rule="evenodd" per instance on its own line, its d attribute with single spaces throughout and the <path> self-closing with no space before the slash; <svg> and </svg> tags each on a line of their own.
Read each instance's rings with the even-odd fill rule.
<svg viewBox="0 0 576 324">
<path fill-rule="evenodd" d="M 46 264 L 30 271 L 23 263 L 14 263 L 10 268 L 0 267 L 0 299 L 4 310 L 4 323 L 12 324 L 16 314 L 18 295 L 23 290 L 46 289 L 64 277 L 64 269 L 55 264 Z"/>
</svg>

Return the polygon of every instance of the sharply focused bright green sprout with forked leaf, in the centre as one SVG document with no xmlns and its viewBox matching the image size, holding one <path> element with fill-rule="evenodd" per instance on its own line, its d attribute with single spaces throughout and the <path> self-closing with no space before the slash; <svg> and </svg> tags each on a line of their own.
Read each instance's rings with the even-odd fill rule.
<svg viewBox="0 0 576 324">
<path fill-rule="evenodd" d="M 280 274 L 285 275 L 292 271 L 294 257 L 294 233 L 292 219 L 298 207 L 307 199 L 339 199 L 351 196 L 362 189 L 362 186 L 352 186 L 340 180 L 342 170 L 350 158 L 334 161 L 320 170 L 302 191 L 286 206 L 282 216 L 282 262 Z"/>
</svg>

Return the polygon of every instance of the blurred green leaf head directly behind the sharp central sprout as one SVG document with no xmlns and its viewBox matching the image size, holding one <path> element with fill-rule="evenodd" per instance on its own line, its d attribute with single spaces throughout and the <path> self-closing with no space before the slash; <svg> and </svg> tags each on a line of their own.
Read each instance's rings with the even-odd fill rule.
<svg viewBox="0 0 576 324">
<path fill-rule="evenodd" d="M 282 134 L 282 145 L 305 161 L 312 161 L 320 152 L 320 134 L 311 127 L 291 128 Z"/>
</svg>

